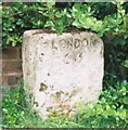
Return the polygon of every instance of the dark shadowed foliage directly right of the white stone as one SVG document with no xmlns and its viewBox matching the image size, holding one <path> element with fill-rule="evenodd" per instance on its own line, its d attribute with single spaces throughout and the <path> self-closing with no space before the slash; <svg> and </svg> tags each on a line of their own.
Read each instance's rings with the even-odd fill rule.
<svg viewBox="0 0 128 130">
<path fill-rule="evenodd" d="M 106 39 L 104 39 L 105 42 Z M 127 69 L 127 49 L 128 49 L 128 39 L 125 40 L 123 36 L 107 38 L 108 42 L 105 46 L 104 53 L 104 65 L 105 65 L 105 75 L 104 83 L 107 83 L 107 80 L 111 80 L 111 83 L 114 83 L 116 80 L 124 80 L 128 78 Z"/>
</svg>

